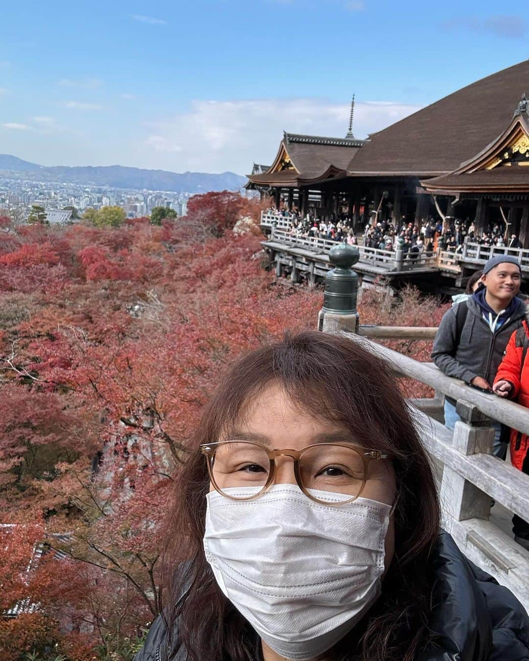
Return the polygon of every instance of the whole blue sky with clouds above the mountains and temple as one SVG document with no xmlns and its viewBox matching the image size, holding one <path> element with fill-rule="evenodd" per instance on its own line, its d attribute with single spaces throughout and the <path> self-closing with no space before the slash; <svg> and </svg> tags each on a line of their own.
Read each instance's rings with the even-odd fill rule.
<svg viewBox="0 0 529 661">
<path fill-rule="evenodd" d="M 353 92 L 366 137 L 529 58 L 526 3 L 4 4 L 0 153 L 42 165 L 244 174 L 282 130 L 345 135 Z"/>
</svg>

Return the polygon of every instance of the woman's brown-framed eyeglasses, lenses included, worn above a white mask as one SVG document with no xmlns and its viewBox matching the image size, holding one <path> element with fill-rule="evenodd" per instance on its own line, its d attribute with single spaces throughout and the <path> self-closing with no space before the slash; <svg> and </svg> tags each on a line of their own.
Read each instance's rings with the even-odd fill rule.
<svg viewBox="0 0 529 661">
<path fill-rule="evenodd" d="M 199 447 L 206 455 L 212 485 L 231 500 L 259 498 L 274 483 L 276 458 L 290 457 L 294 460 L 296 482 L 305 496 L 326 505 L 345 504 L 362 494 L 372 461 L 391 459 L 391 455 L 380 450 L 350 443 L 317 443 L 293 450 L 270 449 L 252 441 L 233 440 Z M 245 495 L 243 489 L 248 486 L 260 488 Z M 311 491 L 330 491 L 336 496 L 332 500 L 322 500 Z"/>
</svg>

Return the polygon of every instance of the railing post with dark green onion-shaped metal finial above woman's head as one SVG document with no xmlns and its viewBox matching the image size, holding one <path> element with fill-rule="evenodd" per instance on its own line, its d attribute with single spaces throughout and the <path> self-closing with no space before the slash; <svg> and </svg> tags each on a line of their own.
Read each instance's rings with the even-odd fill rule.
<svg viewBox="0 0 529 661">
<path fill-rule="evenodd" d="M 332 268 L 325 276 L 323 307 L 318 315 L 318 330 L 358 332 L 358 274 L 350 268 L 360 259 L 358 247 L 339 243 L 329 251 Z"/>
</svg>

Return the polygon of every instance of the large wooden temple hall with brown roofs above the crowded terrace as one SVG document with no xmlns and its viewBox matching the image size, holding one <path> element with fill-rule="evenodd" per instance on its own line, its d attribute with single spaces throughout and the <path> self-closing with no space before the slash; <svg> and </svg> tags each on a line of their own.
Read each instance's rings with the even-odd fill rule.
<svg viewBox="0 0 529 661">
<path fill-rule="evenodd" d="M 305 215 L 499 223 L 529 248 L 529 60 L 487 76 L 368 139 L 285 133 L 247 188 Z M 363 215 L 362 215 L 363 214 Z"/>
</svg>

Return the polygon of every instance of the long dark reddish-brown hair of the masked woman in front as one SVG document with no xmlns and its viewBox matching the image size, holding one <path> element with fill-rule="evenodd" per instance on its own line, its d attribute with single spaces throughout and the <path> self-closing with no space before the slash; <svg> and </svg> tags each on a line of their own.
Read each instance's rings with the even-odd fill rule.
<svg viewBox="0 0 529 661">
<path fill-rule="evenodd" d="M 188 661 L 254 658 L 255 632 L 224 597 L 204 557 L 209 479 L 198 445 L 229 431 L 272 382 L 312 414 L 345 425 L 359 444 L 395 457 L 395 553 L 382 596 L 331 654 L 337 660 L 411 661 L 428 635 L 428 555 L 440 525 L 430 462 L 387 364 L 357 342 L 312 331 L 286 334 L 237 360 L 204 408 L 190 457 L 175 481 L 168 521 L 173 577 L 163 612 L 169 631 L 178 630 L 178 642 L 167 637 L 168 656 L 183 646 Z"/>
</svg>

